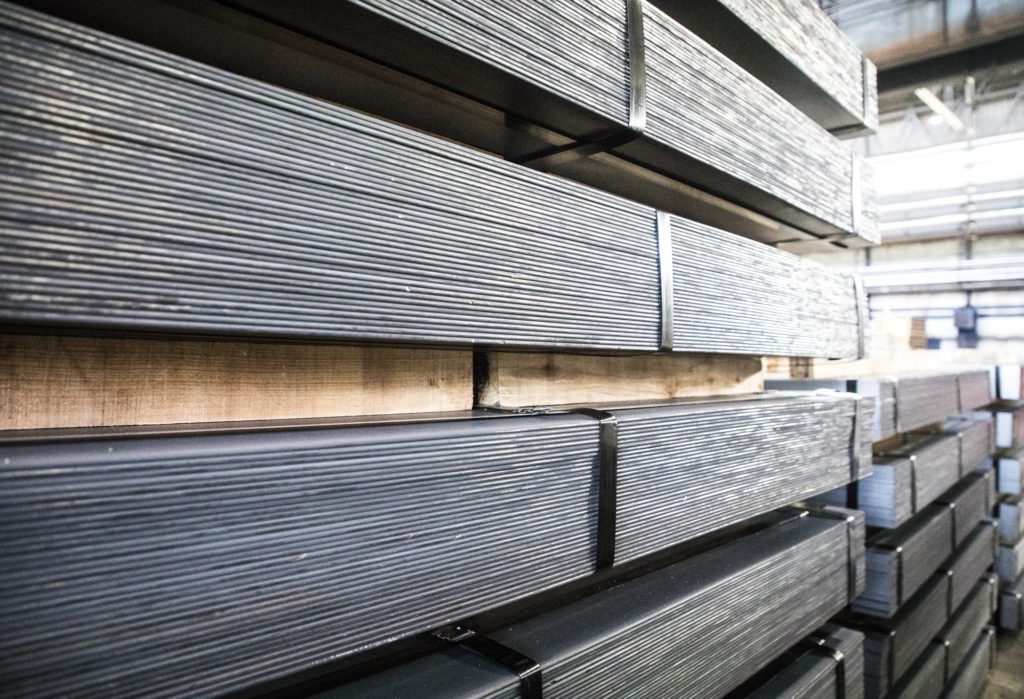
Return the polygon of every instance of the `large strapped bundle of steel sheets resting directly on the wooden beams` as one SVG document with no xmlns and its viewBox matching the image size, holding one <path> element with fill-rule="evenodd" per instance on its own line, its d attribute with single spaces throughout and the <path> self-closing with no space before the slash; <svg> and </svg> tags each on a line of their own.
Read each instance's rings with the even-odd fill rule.
<svg viewBox="0 0 1024 699">
<path fill-rule="evenodd" d="M 795 256 L 13 5 L 0 4 L 0 41 L 7 323 L 756 355 L 862 347 L 853 278 Z M 739 278 L 758 293 L 709 292 Z"/>
</svg>

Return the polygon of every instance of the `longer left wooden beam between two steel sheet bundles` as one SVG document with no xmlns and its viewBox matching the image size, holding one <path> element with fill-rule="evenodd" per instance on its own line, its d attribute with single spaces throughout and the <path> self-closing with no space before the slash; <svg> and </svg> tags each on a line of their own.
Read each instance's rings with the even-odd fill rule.
<svg viewBox="0 0 1024 699">
<path fill-rule="evenodd" d="M 472 353 L 0 336 L 0 430 L 462 410 Z"/>
</svg>

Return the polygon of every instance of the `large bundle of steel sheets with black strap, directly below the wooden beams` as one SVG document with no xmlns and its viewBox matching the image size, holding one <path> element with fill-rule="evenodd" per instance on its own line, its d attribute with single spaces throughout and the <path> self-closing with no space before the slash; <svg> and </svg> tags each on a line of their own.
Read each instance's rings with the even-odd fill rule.
<svg viewBox="0 0 1024 699">
<path fill-rule="evenodd" d="M 218 693 L 510 603 L 849 481 L 859 400 L 11 443 L 5 689 Z"/>
</svg>

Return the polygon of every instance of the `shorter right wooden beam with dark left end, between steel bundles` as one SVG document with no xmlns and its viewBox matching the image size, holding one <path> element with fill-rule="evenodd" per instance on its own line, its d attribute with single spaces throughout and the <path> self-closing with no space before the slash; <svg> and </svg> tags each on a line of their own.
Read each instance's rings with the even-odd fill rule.
<svg viewBox="0 0 1024 699">
<path fill-rule="evenodd" d="M 486 352 L 476 389 L 481 406 L 523 407 L 757 393 L 764 378 L 760 357 Z"/>
</svg>

